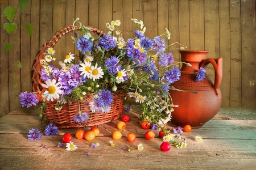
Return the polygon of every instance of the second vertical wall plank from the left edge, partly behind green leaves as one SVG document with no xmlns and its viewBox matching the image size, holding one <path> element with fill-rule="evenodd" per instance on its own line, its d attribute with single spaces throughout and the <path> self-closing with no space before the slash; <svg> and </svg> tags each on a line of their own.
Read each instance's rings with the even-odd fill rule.
<svg viewBox="0 0 256 170">
<path fill-rule="evenodd" d="M 9 6 L 12 8 L 18 6 L 18 1 L 10 1 Z M 17 12 L 20 12 L 19 8 Z M 15 17 L 14 23 L 19 23 L 20 18 Z M 16 34 L 16 33 L 15 33 Z M 9 52 L 9 107 L 10 112 L 15 111 L 20 108 L 19 95 L 20 95 L 20 69 L 18 67 L 18 61 L 20 61 L 20 29 L 18 29 L 17 36 L 15 37 L 13 33 L 9 36 L 9 42 L 13 43 L 15 40 L 15 45 L 13 49 Z M 16 87 L 15 87 L 16 86 Z"/>
</svg>

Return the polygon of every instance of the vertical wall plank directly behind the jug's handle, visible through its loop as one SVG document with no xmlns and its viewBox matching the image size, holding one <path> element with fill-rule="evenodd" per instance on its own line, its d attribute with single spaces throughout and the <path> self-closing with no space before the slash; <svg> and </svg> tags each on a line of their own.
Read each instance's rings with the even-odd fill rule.
<svg viewBox="0 0 256 170">
<path fill-rule="evenodd" d="M 204 48 L 209 50 L 207 58 L 219 57 L 219 16 L 218 1 L 204 1 L 204 28 L 205 28 L 205 45 Z M 214 67 L 210 64 L 207 66 L 207 75 L 214 80 Z"/>
</svg>

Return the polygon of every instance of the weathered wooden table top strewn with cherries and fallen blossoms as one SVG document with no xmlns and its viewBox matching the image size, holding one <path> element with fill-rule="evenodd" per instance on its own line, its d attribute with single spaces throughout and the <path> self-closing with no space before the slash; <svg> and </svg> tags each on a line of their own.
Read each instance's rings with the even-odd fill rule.
<svg viewBox="0 0 256 170">
<path fill-rule="evenodd" d="M 75 133 L 76 128 L 59 129 L 57 135 L 43 135 L 38 141 L 29 141 L 28 130 L 39 128 L 38 112 L 33 109 L 11 112 L 0 118 L 0 169 L 256 169 L 255 109 L 221 108 L 203 128 L 183 133 L 187 147 L 171 146 L 168 152 L 160 150 L 162 138 L 157 131 L 151 141 L 144 138 L 146 130 L 138 124 L 138 111 L 128 114 L 131 120 L 122 130 L 121 139 L 113 140 L 106 130 L 116 130 L 119 118 L 98 125 L 100 134 L 92 142 L 73 138 L 78 148 L 67 151 L 65 146 L 56 146 L 64 133 Z M 168 128 L 172 127 L 176 126 L 168 123 Z M 125 137 L 130 131 L 137 131 L 137 139 L 132 143 Z M 200 135 L 203 142 L 196 142 L 196 135 Z M 110 146 L 110 140 L 115 143 L 114 147 Z M 100 146 L 90 147 L 95 142 Z M 139 143 L 144 146 L 141 151 L 137 150 Z M 46 147 L 40 147 L 42 145 Z"/>
</svg>

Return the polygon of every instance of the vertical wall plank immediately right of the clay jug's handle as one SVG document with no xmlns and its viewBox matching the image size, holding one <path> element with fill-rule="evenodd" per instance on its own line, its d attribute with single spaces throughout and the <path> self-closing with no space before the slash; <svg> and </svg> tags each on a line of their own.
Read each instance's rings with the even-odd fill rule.
<svg viewBox="0 0 256 170">
<path fill-rule="evenodd" d="M 230 106 L 230 20 L 229 1 L 219 1 L 220 15 L 220 57 L 223 59 L 223 78 L 221 82 L 222 107 Z"/>
</svg>

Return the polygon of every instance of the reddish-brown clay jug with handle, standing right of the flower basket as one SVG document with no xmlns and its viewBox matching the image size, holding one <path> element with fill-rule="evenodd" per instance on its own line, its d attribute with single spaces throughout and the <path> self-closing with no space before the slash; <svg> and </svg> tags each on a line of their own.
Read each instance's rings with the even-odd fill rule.
<svg viewBox="0 0 256 170">
<path fill-rule="evenodd" d="M 209 51 L 180 50 L 181 61 L 188 62 L 192 67 L 185 63 L 181 66 L 180 80 L 170 86 L 185 91 L 170 90 L 170 94 L 175 105 L 171 113 L 172 123 L 181 127 L 191 125 L 193 128 L 201 128 L 206 122 L 212 119 L 220 111 L 222 96 L 220 84 L 222 79 L 222 58 L 207 58 Z M 203 81 L 195 82 L 196 75 L 191 73 L 199 71 L 200 67 L 207 67 L 211 63 L 214 67 L 214 82 L 206 74 Z"/>
</svg>

